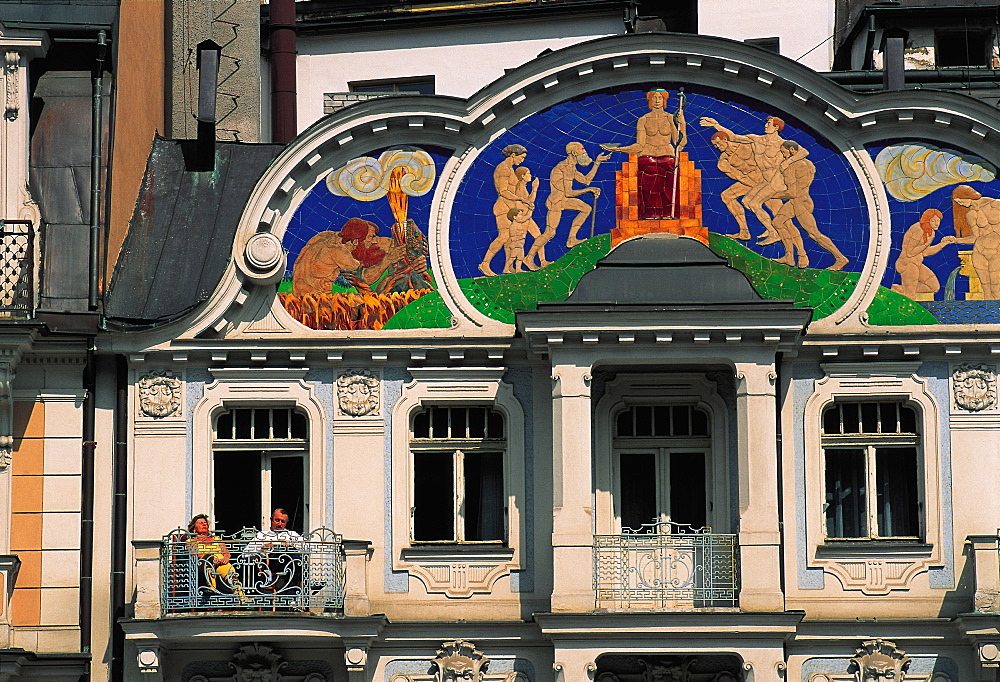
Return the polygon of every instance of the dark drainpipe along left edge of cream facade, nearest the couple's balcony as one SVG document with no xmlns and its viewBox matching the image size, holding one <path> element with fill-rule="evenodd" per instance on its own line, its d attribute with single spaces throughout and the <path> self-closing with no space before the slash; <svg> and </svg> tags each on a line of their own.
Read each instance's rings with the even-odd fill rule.
<svg viewBox="0 0 1000 682">
<path fill-rule="evenodd" d="M 124 679 L 125 554 L 128 542 L 128 365 L 119 355 L 115 368 L 114 500 L 111 506 L 111 679 Z"/>
</svg>

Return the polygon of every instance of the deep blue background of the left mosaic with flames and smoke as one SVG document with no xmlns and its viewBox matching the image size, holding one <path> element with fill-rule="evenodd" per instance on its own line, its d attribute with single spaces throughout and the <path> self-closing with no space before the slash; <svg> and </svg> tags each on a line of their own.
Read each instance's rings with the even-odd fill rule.
<svg viewBox="0 0 1000 682">
<path fill-rule="evenodd" d="M 392 147 L 400 148 L 399 146 Z M 387 148 L 376 149 L 362 154 L 378 158 L 378 155 Z M 437 176 L 440 176 L 444 162 L 451 157 L 451 152 L 437 147 L 421 146 L 434 159 Z M 345 160 L 346 163 L 346 160 Z M 331 169 L 332 170 L 332 169 Z M 435 180 L 435 187 L 437 180 Z M 427 221 L 430 216 L 431 199 L 434 197 L 434 188 L 419 197 L 410 197 L 407 209 L 407 217 L 415 220 L 420 231 L 427 236 Z M 379 227 L 380 237 L 392 236 L 392 224 L 395 219 L 389 208 L 388 198 L 376 199 L 375 201 L 358 201 L 351 197 L 338 197 L 330 193 L 326 188 L 326 176 L 313 187 L 302 203 L 295 209 L 288 229 L 282 239 L 285 251 L 288 252 L 288 264 L 285 267 L 285 279 L 291 279 L 292 268 L 295 266 L 295 259 L 299 251 L 317 233 L 324 230 L 339 232 L 350 218 L 361 218 L 370 220 Z"/>
</svg>

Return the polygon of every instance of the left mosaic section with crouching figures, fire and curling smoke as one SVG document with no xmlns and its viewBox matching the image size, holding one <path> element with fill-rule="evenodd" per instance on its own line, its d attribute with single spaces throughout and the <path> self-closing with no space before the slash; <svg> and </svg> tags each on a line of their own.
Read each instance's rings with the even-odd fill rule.
<svg viewBox="0 0 1000 682">
<path fill-rule="evenodd" d="M 296 209 L 278 295 L 313 329 L 382 329 L 435 290 L 430 194 L 447 152 L 390 149 L 331 171 Z M 437 324 L 449 326 L 450 316 Z"/>
</svg>

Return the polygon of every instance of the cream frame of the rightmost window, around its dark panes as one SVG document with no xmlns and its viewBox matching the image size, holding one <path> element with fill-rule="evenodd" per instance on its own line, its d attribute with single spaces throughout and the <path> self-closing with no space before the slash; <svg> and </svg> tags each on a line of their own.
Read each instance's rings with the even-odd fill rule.
<svg viewBox="0 0 1000 682">
<path fill-rule="evenodd" d="M 825 429 L 821 427 L 821 441 L 822 441 L 822 461 L 821 466 L 823 467 L 823 480 L 824 480 L 824 494 L 829 491 L 826 485 L 826 473 L 828 467 L 828 452 L 836 450 L 860 450 L 863 452 L 864 456 L 864 478 L 865 478 L 865 535 L 858 536 L 844 536 L 837 537 L 831 536 L 829 534 L 829 526 L 826 522 L 826 512 L 827 503 L 824 502 L 824 526 L 823 534 L 824 539 L 827 543 L 842 543 L 842 542 L 910 542 L 910 543 L 921 543 L 925 536 L 925 524 L 924 524 L 924 483 L 923 483 L 923 449 L 921 447 L 921 434 L 920 434 L 920 424 L 922 423 L 922 415 L 918 405 L 902 401 L 902 400 L 881 400 L 880 396 L 870 397 L 868 399 L 852 399 L 845 400 L 843 398 L 834 400 L 823 408 L 823 419 L 825 419 L 826 414 L 829 410 L 834 409 L 837 405 L 861 405 L 861 404 L 896 404 L 900 407 L 905 407 L 914 412 L 914 419 L 916 420 L 917 428 L 914 433 L 881 433 L 881 432 L 866 432 L 858 431 L 857 433 L 849 434 L 827 434 Z M 883 448 L 889 449 L 902 449 L 902 448 L 912 448 L 914 451 L 914 467 L 916 470 L 916 501 L 915 509 L 912 511 L 916 514 L 916 525 L 917 533 L 916 535 L 890 535 L 882 534 L 882 528 L 879 527 L 879 513 L 878 513 L 878 451 Z"/>
</svg>

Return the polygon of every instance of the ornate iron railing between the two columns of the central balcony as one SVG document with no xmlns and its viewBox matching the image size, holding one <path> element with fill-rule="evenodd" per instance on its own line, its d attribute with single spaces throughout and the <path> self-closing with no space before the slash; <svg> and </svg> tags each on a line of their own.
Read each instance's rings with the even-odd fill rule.
<svg viewBox="0 0 1000 682">
<path fill-rule="evenodd" d="M 663 522 L 594 536 L 598 608 L 731 607 L 737 604 L 736 536 Z"/>
</svg>

